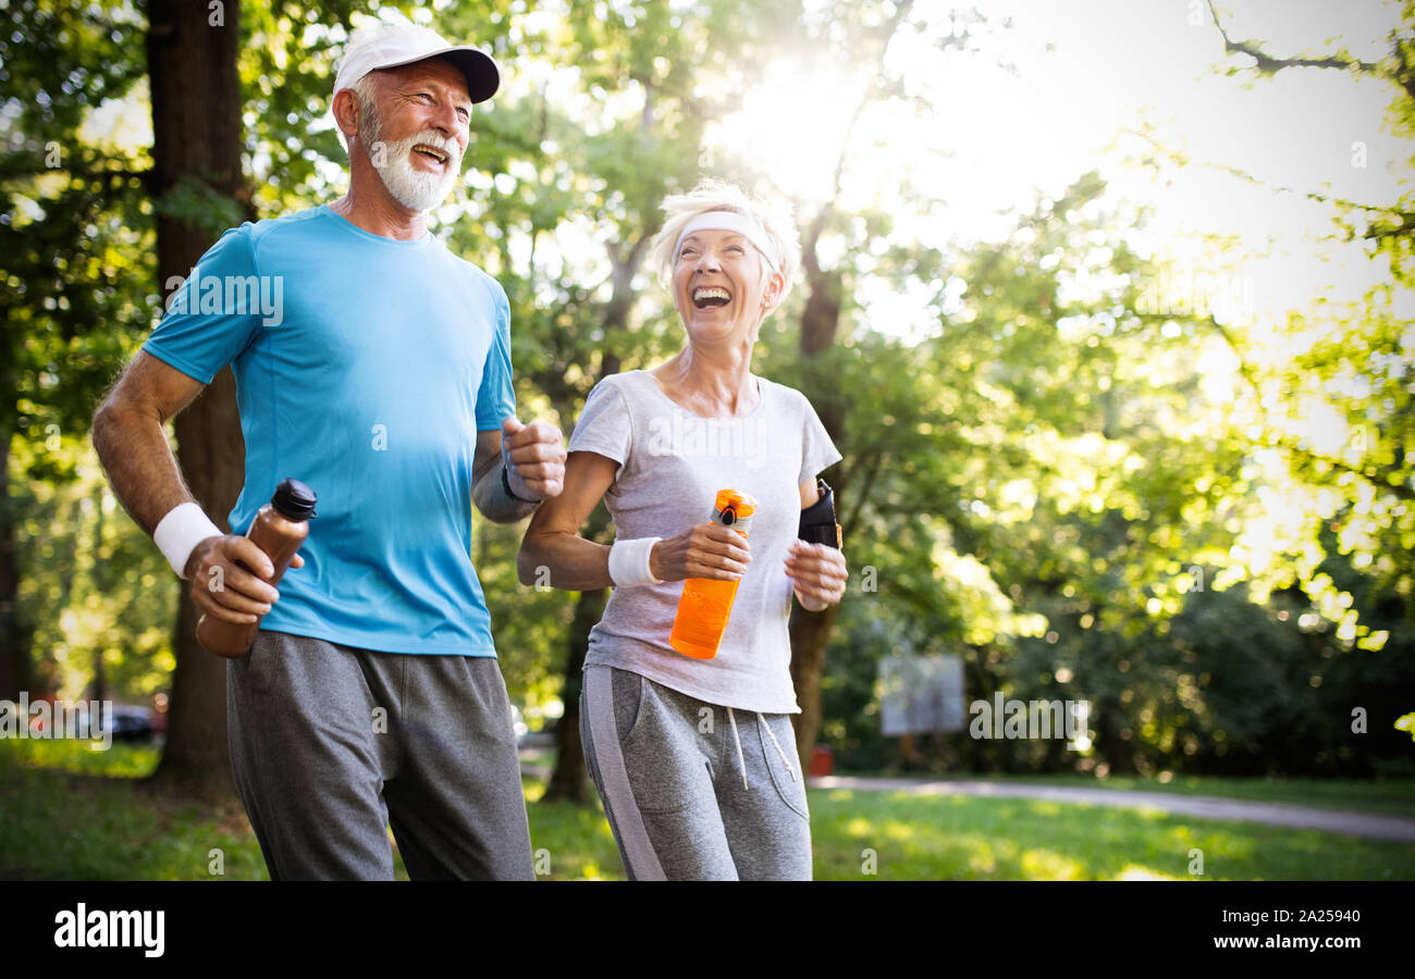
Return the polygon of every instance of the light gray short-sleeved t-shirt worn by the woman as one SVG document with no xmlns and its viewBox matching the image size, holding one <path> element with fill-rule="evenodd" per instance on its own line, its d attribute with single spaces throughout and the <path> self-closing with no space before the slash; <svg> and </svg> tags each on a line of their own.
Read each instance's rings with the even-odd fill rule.
<svg viewBox="0 0 1415 979">
<path fill-rule="evenodd" d="M 798 487 L 841 460 L 799 390 L 753 375 L 760 399 L 740 419 L 703 419 L 674 402 L 645 371 L 604 378 L 590 392 L 567 451 L 620 463 L 604 504 L 624 539 L 672 538 L 712 519 L 719 490 L 757 501 L 737 586 L 713 659 L 668 645 L 682 581 L 614 589 L 590 631 L 586 666 L 617 666 L 708 703 L 799 713 L 791 685 L 791 579 L 787 550 L 801 522 Z"/>
</svg>

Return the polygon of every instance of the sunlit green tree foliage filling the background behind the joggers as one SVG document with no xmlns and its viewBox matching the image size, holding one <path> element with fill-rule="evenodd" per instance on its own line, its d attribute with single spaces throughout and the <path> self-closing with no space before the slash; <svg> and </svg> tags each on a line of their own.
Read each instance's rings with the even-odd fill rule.
<svg viewBox="0 0 1415 979">
<path fill-rule="evenodd" d="M 852 584 L 825 661 L 822 733 L 842 760 L 897 760 L 879 736 L 874 671 L 906 651 L 961 655 L 969 699 L 1092 703 L 1087 754 L 957 734 L 930 746 L 938 765 L 1399 771 L 1409 748 L 1394 722 L 1415 703 L 1409 194 L 1330 202 L 1334 235 L 1368 241 L 1388 270 L 1360 303 L 1281 323 L 1174 313 L 1153 301 L 1166 257 L 1136 246 L 1145 215 L 1097 173 L 1017 214 L 999 241 L 944 249 L 897 233 L 947 204 L 925 170 L 852 170 L 870 112 L 913 112 L 903 117 L 928 132 L 931 106 L 884 58 L 894 33 L 972 57 L 978 37 L 1005 30 L 978 16 L 887 0 L 324 0 L 242 8 L 250 197 L 236 204 L 250 214 L 341 192 L 334 55 L 371 7 L 487 44 L 504 68 L 502 93 L 473 116 L 466 190 L 436 231 L 511 297 L 522 419 L 569 431 L 603 373 L 679 345 L 644 265 L 666 192 L 709 173 L 797 205 L 816 266 L 763 331 L 757 369 L 841 419 Z M 1404 134 L 1415 132 L 1412 10 L 1385 59 L 1346 64 L 1391 82 Z M 157 209 L 212 238 L 239 215 L 194 184 L 147 192 L 140 4 L 31 0 L 0 17 L 13 625 L 33 631 L 25 661 L 45 683 L 76 695 L 102 664 L 109 689 L 143 697 L 171 668 L 177 586 L 106 494 L 86 419 L 160 311 Z M 831 150 L 829 199 L 763 173 L 753 146 L 712 139 L 773 61 L 812 58 L 865 79 L 829 93 L 859 124 Z M 1295 58 L 1268 55 L 1258 71 L 1296 69 Z M 880 330 L 872 290 L 925 294 L 934 323 Z M 835 306 L 838 328 L 802 357 L 811 297 Z M 1206 373 L 1220 354 L 1238 365 L 1227 400 Z M 1350 426 L 1347 444 L 1305 434 L 1319 409 Z M 1276 521 L 1279 501 L 1299 518 Z M 1279 523 L 1257 549 L 1252 531 Z M 607 536 L 603 512 L 596 532 Z M 531 703 L 573 696 L 562 673 L 589 600 L 521 587 L 518 545 L 516 528 L 477 526 L 508 686 Z"/>
</svg>

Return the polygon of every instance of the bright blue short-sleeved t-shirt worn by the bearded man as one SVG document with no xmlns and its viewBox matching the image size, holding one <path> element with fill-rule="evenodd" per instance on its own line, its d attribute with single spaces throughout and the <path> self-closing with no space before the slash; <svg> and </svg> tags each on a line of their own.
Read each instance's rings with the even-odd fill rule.
<svg viewBox="0 0 1415 979">
<path fill-rule="evenodd" d="M 262 628 L 382 652 L 495 656 L 471 566 L 477 431 L 515 415 L 511 308 L 432 233 L 328 207 L 221 236 L 143 345 L 209 383 L 231 364 L 243 533 L 286 477 L 317 516 Z"/>
</svg>

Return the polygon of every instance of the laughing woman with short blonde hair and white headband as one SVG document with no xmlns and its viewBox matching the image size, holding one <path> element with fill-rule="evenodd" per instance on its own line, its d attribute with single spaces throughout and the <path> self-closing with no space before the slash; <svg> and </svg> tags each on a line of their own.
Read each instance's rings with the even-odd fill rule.
<svg viewBox="0 0 1415 979">
<path fill-rule="evenodd" d="M 590 392 L 565 490 L 532 519 L 519 574 L 529 584 L 548 569 L 559 589 L 614 586 L 590 632 L 580 733 L 628 876 L 808 880 L 787 617 L 792 593 L 811 610 L 845 593 L 818 481 L 841 454 L 801 392 L 751 372 L 799 246 L 788 215 L 727 184 L 669 197 L 664 211 L 652 255 L 686 342 Z M 709 519 L 720 490 L 756 499 L 747 538 Z M 579 536 L 601 498 L 611 548 Z M 688 579 L 739 581 L 710 659 L 669 644 Z"/>
</svg>

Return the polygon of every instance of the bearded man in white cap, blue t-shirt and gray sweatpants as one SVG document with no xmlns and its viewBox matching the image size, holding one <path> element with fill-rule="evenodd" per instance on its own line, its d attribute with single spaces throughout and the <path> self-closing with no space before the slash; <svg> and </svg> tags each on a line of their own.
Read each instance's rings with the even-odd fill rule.
<svg viewBox="0 0 1415 979">
<path fill-rule="evenodd" d="M 228 723 L 275 879 L 391 879 L 389 826 L 415 879 L 533 877 L 470 511 L 529 515 L 565 450 L 515 417 L 505 291 L 426 228 L 498 85 L 488 55 L 426 28 L 357 34 L 334 92 L 348 192 L 228 231 L 95 416 L 116 495 L 201 611 L 263 615 L 228 661 Z M 252 282 L 279 308 L 243 301 Z M 191 499 L 163 433 L 226 364 L 246 441 L 232 529 L 284 477 L 318 494 L 279 590 Z"/>
</svg>

